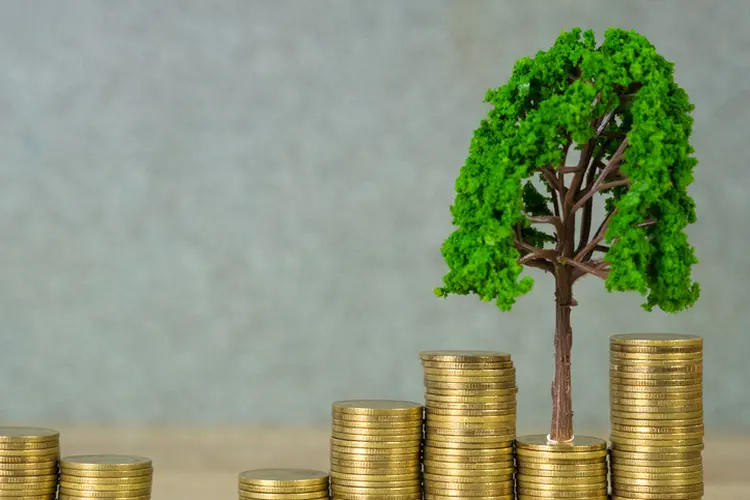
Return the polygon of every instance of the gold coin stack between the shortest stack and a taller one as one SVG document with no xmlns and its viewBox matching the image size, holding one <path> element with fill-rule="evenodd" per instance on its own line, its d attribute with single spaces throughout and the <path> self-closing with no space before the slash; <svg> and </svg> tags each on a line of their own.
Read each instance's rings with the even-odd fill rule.
<svg viewBox="0 0 750 500">
<path fill-rule="evenodd" d="M 422 413 L 410 401 L 333 403 L 333 499 L 420 500 Z"/>
</svg>

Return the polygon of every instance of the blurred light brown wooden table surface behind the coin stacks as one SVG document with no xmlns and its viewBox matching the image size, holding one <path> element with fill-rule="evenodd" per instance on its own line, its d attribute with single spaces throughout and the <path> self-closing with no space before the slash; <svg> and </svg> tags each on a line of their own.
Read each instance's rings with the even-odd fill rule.
<svg viewBox="0 0 750 500">
<path fill-rule="evenodd" d="M 152 458 L 155 500 L 236 499 L 237 474 L 247 469 L 328 470 L 328 429 L 56 429 L 63 455 Z M 704 466 L 705 500 L 750 500 L 750 437 L 707 436 Z"/>
</svg>

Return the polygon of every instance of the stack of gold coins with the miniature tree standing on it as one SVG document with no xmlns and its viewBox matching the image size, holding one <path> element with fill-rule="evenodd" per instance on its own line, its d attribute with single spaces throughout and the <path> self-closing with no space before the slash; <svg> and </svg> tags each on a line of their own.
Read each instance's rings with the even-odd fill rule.
<svg viewBox="0 0 750 500">
<path fill-rule="evenodd" d="M 547 436 L 516 439 L 518 500 L 607 500 L 607 441 L 576 436 L 551 443 Z"/>
</svg>

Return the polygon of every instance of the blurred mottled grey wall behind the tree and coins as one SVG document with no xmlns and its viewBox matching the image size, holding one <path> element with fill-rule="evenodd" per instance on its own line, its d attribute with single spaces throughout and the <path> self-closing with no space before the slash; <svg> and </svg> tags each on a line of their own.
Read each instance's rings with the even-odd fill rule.
<svg viewBox="0 0 750 500">
<path fill-rule="evenodd" d="M 438 300 L 485 91 L 563 29 L 636 29 L 696 105 L 698 305 L 578 286 L 576 425 L 608 336 L 704 335 L 710 432 L 750 432 L 750 2 L 0 2 L 0 418 L 326 425 L 497 349 L 547 429 L 552 281 Z"/>
</svg>

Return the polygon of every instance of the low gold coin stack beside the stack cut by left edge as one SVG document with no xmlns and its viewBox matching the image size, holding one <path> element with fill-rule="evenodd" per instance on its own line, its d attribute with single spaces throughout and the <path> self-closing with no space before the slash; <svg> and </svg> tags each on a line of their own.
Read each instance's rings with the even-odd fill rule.
<svg viewBox="0 0 750 500">
<path fill-rule="evenodd" d="M 151 459 L 130 455 L 73 455 L 60 460 L 59 500 L 148 500 Z"/>
</svg>

